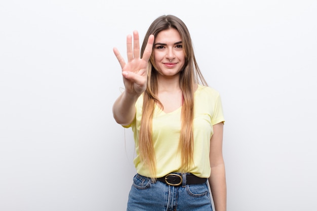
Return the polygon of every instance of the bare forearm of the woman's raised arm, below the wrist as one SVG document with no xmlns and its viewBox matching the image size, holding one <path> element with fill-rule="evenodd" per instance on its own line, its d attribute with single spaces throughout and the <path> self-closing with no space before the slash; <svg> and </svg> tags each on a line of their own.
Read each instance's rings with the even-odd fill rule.
<svg viewBox="0 0 317 211">
<path fill-rule="evenodd" d="M 123 92 L 113 104 L 112 112 L 115 121 L 122 125 L 132 122 L 135 116 L 135 103 L 138 95 Z"/>
</svg>

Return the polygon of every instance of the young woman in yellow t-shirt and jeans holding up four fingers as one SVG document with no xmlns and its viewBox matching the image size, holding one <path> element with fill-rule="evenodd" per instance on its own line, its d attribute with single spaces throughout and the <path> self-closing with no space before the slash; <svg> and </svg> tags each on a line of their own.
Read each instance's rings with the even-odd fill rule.
<svg viewBox="0 0 317 211">
<path fill-rule="evenodd" d="M 219 93 L 207 86 L 186 25 L 172 15 L 150 25 L 142 48 L 127 36 L 125 91 L 113 105 L 117 123 L 134 132 L 137 175 L 128 211 L 226 210 Z"/>
</svg>

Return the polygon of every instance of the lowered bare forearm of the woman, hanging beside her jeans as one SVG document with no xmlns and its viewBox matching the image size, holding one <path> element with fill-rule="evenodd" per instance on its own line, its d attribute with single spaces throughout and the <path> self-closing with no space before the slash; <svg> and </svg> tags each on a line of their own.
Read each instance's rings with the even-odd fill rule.
<svg viewBox="0 0 317 211">
<path fill-rule="evenodd" d="M 211 167 L 209 184 L 216 211 L 226 211 L 227 190 L 224 164 Z"/>
</svg>

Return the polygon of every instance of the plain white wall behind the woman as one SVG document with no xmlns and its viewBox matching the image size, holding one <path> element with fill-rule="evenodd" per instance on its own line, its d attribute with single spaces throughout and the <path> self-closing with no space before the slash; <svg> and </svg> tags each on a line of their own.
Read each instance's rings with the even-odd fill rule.
<svg viewBox="0 0 317 211">
<path fill-rule="evenodd" d="M 0 210 L 125 210 L 133 139 L 112 53 L 174 14 L 222 96 L 228 210 L 316 210 L 314 0 L 0 3 Z"/>
</svg>

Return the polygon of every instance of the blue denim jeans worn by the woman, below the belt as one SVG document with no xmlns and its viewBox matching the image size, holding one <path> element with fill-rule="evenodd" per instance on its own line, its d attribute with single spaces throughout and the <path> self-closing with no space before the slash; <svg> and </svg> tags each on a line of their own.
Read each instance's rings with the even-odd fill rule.
<svg viewBox="0 0 317 211">
<path fill-rule="evenodd" d="M 127 211 L 212 211 L 208 183 L 170 186 L 139 174 L 133 178 Z"/>
</svg>

